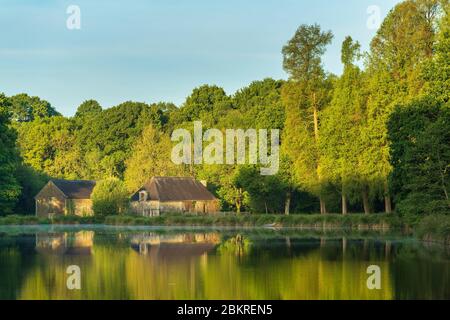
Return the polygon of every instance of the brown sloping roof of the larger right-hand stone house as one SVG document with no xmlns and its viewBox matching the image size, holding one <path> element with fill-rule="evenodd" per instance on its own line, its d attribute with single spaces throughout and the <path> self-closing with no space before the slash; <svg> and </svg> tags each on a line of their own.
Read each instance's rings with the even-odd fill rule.
<svg viewBox="0 0 450 320">
<path fill-rule="evenodd" d="M 139 192 L 144 190 L 150 200 L 162 202 L 217 200 L 202 183 L 190 177 L 153 177 L 131 199 L 138 201 Z"/>
</svg>

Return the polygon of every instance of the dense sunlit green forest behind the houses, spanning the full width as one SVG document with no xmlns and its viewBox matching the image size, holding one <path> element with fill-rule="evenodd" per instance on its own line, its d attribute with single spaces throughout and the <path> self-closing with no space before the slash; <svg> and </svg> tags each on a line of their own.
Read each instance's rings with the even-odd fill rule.
<svg viewBox="0 0 450 320">
<path fill-rule="evenodd" d="M 39 97 L 0 94 L 0 215 L 33 214 L 50 178 L 115 178 L 131 194 L 155 175 L 207 180 L 224 211 L 449 214 L 449 9 L 448 0 L 398 4 L 368 52 L 345 39 L 341 76 L 322 64 L 333 33 L 301 25 L 282 48 L 289 79 L 232 95 L 203 85 L 181 106 L 89 100 L 64 117 Z M 174 165 L 171 133 L 194 120 L 280 129 L 280 171 Z"/>
</svg>

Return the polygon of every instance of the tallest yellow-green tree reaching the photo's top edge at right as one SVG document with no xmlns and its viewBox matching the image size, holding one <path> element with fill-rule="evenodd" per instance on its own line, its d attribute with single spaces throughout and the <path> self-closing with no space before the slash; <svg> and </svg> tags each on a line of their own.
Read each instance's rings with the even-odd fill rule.
<svg viewBox="0 0 450 320">
<path fill-rule="evenodd" d="M 398 4 L 371 43 L 367 125 L 362 132 L 366 148 L 362 158 L 372 197 L 382 195 L 386 212 L 392 207 L 387 181 L 392 167 L 386 124 L 396 105 L 413 101 L 422 90 L 421 69 L 433 53 L 439 8 L 438 0 L 408 0 Z"/>
</svg>

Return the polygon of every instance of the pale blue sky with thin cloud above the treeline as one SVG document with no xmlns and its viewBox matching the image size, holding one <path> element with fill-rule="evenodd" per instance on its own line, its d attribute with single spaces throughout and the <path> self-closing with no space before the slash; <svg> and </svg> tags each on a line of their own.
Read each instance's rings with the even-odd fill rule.
<svg viewBox="0 0 450 320">
<path fill-rule="evenodd" d="M 66 116 L 85 100 L 183 103 L 215 84 L 228 94 L 287 79 L 281 49 L 301 24 L 332 30 L 323 63 L 342 72 L 347 35 L 369 48 L 398 0 L 0 0 L 0 92 L 28 93 Z M 69 29 L 71 5 L 80 29 Z M 70 20 L 72 21 L 72 20 Z"/>
</svg>

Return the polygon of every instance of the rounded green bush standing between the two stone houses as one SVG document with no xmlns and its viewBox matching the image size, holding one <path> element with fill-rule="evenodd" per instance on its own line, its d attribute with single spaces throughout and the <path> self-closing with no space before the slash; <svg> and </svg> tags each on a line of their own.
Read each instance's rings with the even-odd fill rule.
<svg viewBox="0 0 450 320">
<path fill-rule="evenodd" d="M 97 182 L 92 191 L 95 216 L 125 214 L 128 210 L 129 193 L 125 184 L 116 178 Z"/>
</svg>

